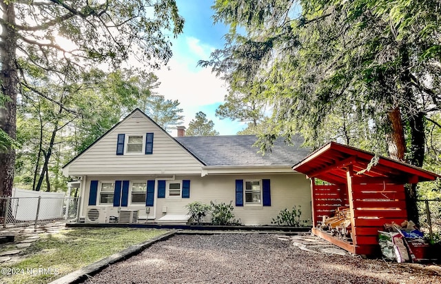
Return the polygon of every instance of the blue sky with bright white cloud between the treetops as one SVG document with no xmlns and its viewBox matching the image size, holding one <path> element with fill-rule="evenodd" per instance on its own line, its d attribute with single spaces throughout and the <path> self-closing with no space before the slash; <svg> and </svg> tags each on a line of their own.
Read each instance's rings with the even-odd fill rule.
<svg viewBox="0 0 441 284">
<path fill-rule="evenodd" d="M 194 119 L 196 112 L 201 111 L 207 114 L 207 119 L 214 122 L 214 129 L 220 135 L 236 134 L 245 125 L 228 119 L 220 120 L 214 114 L 216 108 L 223 103 L 227 86 L 212 74 L 210 68 L 196 66 L 199 60 L 209 59 L 209 54 L 214 49 L 223 48 L 223 36 L 228 28 L 222 24 L 213 24 L 213 1 L 176 2 L 185 19 L 184 31 L 172 41 L 173 57 L 167 64 L 168 68 L 155 72 L 161 82 L 156 91 L 166 99 L 177 99 L 181 102 L 185 127 L 188 128 L 189 121 Z"/>
</svg>

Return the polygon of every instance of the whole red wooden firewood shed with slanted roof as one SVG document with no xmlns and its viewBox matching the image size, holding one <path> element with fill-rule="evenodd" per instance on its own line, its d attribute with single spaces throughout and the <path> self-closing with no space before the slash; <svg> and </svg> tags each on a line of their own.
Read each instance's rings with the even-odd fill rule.
<svg viewBox="0 0 441 284">
<path fill-rule="evenodd" d="M 376 163 L 368 170 L 373 159 Z M 331 142 L 293 170 L 311 179 L 312 232 L 353 254 L 376 254 L 378 230 L 384 223 L 407 220 L 404 184 L 433 181 L 438 174 L 407 163 Z M 316 179 L 329 184 L 319 185 Z M 338 207 L 349 207 L 351 241 L 332 236 L 316 226 L 322 216 L 331 216 Z"/>
</svg>

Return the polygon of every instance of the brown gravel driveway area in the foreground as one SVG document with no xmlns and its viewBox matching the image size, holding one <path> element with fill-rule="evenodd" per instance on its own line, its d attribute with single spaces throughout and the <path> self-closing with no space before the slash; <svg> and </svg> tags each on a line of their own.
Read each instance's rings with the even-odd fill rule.
<svg viewBox="0 0 441 284">
<path fill-rule="evenodd" d="M 441 283 L 422 268 L 306 252 L 271 234 L 177 235 L 85 283 Z"/>
</svg>

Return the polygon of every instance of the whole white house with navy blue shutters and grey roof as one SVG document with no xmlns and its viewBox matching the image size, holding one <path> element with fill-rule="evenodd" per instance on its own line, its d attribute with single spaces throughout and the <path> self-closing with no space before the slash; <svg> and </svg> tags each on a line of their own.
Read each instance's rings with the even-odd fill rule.
<svg viewBox="0 0 441 284">
<path fill-rule="evenodd" d="M 232 201 L 244 225 L 270 225 L 293 205 L 301 206 L 302 219 L 311 220 L 309 180 L 291 170 L 310 150 L 299 148 L 302 139 L 295 137 L 294 145 L 276 141 L 263 155 L 255 142 L 252 135 L 174 138 L 136 109 L 63 173 L 81 181 L 79 216 L 85 222 L 119 216 L 185 223 L 185 205 L 193 201 Z"/>
</svg>

